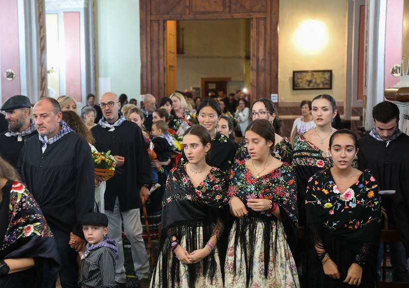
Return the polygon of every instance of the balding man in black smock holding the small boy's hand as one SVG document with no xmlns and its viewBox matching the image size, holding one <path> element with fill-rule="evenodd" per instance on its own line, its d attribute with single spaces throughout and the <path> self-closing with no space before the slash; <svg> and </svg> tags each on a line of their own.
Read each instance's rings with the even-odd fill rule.
<svg viewBox="0 0 409 288">
<path fill-rule="evenodd" d="M 94 209 L 91 148 L 62 120 L 60 105 L 53 98 L 42 98 L 34 105 L 33 120 L 38 137 L 26 141 L 17 168 L 57 242 L 61 286 L 77 288 L 75 250 L 82 250 L 85 244 L 84 234 L 78 229 L 79 218 Z M 71 247 L 70 235 L 76 243 Z"/>
</svg>

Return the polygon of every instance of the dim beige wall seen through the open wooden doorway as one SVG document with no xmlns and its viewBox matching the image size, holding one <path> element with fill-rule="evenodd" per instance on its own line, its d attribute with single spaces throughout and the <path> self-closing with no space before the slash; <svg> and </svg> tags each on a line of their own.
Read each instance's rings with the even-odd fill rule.
<svg viewBox="0 0 409 288">
<path fill-rule="evenodd" d="M 191 20 L 179 26 L 184 28 L 185 53 L 177 58 L 178 90 L 201 87 L 202 77 L 245 81 L 245 20 Z"/>
</svg>

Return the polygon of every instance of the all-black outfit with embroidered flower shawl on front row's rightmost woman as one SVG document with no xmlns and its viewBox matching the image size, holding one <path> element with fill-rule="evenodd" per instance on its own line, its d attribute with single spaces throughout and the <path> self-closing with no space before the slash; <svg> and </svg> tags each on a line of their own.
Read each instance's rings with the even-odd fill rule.
<svg viewBox="0 0 409 288">
<path fill-rule="evenodd" d="M 343 283 L 353 263 L 363 267 L 362 287 L 375 287 L 376 263 L 381 232 L 381 201 L 378 182 L 369 171 L 346 191 L 339 191 L 329 168 L 308 182 L 306 235 L 324 249 L 337 265 L 340 279 L 324 274 L 314 245 L 306 256 L 303 286 L 311 288 L 351 287 Z M 360 287 L 361 287 L 360 286 Z"/>
</svg>

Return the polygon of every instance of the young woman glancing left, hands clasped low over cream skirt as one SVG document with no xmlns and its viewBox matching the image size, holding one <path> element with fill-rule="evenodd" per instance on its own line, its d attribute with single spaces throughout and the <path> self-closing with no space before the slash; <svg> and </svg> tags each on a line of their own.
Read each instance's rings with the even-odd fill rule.
<svg viewBox="0 0 409 288">
<path fill-rule="evenodd" d="M 151 287 L 223 287 L 216 244 L 224 224 L 226 177 L 208 165 L 211 139 L 203 126 L 183 137 L 185 165 L 171 170 L 162 201 L 162 247 Z"/>
</svg>

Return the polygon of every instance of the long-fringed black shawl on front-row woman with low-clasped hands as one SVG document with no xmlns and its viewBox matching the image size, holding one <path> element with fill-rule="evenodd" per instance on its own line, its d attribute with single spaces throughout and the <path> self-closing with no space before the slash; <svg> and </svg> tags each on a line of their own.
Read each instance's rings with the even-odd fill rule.
<svg viewBox="0 0 409 288">
<path fill-rule="evenodd" d="M 202 249 L 212 235 L 220 238 L 224 230 L 223 199 L 226 190 L 225 174 L 216 167 L 211 167 L 205 179 L 194 187 L 190 177 L 186 173 L 184 165 L 173 168 L 168 176 L 164 198 L 162 201 L 162 267 L 160 277 L 164 287 L 168 285 L 168 278 L 172 278 L 172 287 L 179 282 L 180 262 L 173 257 L 171 273 L 168 274 L 171 260 L 171 238 L 181 241 L 185 236 L 186 249 L 189 253 Z M 197 247 L 197 239 L 200 237 L 199 228 L 203 228 L 203 243 Z M 194 287 L 199 273 L 209 275 L 214 279 L 216 272 L 216 260 L 214 253 L 202 260 L 203 271 L 199 271 L 199 263 L 188 265 L 190 286 Z M 154 272 L 155 275 L 155 272 Z"/>
</svg>

